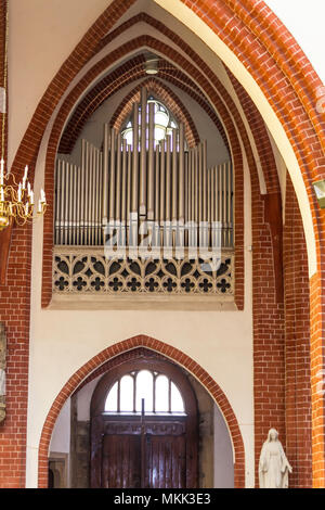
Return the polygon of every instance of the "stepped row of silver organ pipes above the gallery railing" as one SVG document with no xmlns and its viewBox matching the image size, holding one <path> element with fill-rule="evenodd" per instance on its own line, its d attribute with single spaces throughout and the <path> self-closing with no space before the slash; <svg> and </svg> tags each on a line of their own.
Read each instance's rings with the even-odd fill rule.
<svg viewBox="0 0 325 510">
<path fill-rule="evenodd" d="M 144 89 L 142 112 L 145 105 Z M 145 225 L 159 246 L 198 245 L 203 235 L 207 245 L 232 247 L 231 163 L 208 169 L 207 143 L 185 150 L 182 124 L 155 143 L 154 103 L 147 105 L 148 118 L 140 119 L 133 105 L 132 145 L 105 125 L 102 150 L 82 140 L 81 166 L 57 157 L 55 244 L 103 245 L 114 231 L 117 244 L 136 245 Z M 184 233 L 177 240 L 178 229 Z"/>
</svg>

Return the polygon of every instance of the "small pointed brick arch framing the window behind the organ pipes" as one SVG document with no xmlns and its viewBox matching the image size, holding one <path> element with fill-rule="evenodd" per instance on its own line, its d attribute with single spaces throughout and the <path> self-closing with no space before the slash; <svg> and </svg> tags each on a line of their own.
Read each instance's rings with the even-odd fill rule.
<svg viewBox="0 0 325 510">
<path fill-rule="evenodd" d="M 110 127 L 114 127 L 117 131 L 120 130 L 125 118 L 132 111 L 133 103 L 135 101 L 140 101 L 140 91 L 142 87 L 145 87 L 147 90 L 155 92 L 158 99 L 160 99 L 166 104 L 173 116 L 179 122 L 184 124 L 185 137 L 188 146 L 196 146 L 199 143 L 199 136 L 188 110 L 185 109 L 179 97 L 157 78 L 147 78 L 128 93 L 128 95 L 121 101 L 112 115 Z"/>
</svg>

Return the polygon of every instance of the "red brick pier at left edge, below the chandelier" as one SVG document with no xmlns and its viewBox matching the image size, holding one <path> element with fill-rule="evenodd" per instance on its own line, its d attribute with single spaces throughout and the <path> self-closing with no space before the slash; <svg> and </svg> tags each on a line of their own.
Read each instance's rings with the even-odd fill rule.
<svg viewBox="0 0 325 510">
<path fill-rule="evenodd" d="M 6 353 L 6 418 L 0 424 L 0 487 L 24 487 L 30 313 L 31 229 L 14 228 L 0 321 Z"/>
</svg>

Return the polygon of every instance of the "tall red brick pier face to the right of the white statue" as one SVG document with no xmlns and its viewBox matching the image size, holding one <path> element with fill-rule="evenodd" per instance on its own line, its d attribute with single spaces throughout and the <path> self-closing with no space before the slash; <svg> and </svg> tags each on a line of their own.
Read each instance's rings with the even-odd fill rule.
<svg viewBox="0 0 325 510">
<path fill-rule="evenodd" d="M 286 452 L 290 487 L 312 486 L 310 313 L 307 246 L 301 214 L 289 176 L 284 227 L 286 328 Z"/>
</svg>

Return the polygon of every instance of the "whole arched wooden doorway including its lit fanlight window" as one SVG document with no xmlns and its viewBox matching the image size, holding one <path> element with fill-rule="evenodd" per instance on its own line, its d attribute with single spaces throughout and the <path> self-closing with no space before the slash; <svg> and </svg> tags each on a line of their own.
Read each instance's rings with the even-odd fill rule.
<svg viewBox="0 0 325 510">
<path fill-rule="evenodd" d="M 197 404 L 165 360 L 126 361 L 91 401 L 92 488 L 197 487 Z"/>
</svg>

